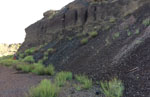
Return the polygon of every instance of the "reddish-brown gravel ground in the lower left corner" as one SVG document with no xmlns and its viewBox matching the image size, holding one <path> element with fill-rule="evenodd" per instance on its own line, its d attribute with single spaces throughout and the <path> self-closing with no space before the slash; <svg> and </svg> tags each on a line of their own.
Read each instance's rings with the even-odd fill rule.
<svg viewBox="0 0 150 97">
<path fill-rule="evenodd" d="M 25 97 L 28 89 L 48 76 L 37 76 L 0 66 L 0 97 Z"/>
</svg>

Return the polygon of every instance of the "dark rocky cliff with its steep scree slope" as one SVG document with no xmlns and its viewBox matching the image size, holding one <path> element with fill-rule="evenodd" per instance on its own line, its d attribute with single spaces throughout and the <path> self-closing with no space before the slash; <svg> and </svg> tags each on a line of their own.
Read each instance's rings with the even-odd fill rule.
<svg viewBox="0 0 150 97">
<path fill-rule="evenodd" d="M 26 28 L 19 52 L 47 43 L 34 54 L 36 61 L 54 48 L 45 65 L 94 80 L 118 77 L 125 84 L 124 97 L 149 97 L 149 10 L 149 0 L 75 0 Z M 93 31 L 96 37 L 88 34 Z"/>
</svg>

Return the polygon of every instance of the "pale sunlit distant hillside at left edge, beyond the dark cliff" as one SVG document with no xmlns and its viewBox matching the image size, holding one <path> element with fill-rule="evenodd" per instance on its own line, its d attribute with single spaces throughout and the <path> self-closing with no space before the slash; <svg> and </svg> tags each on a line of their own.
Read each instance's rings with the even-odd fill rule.
<svg viewBox="0 0 150 97">
<path fill-rule="evenodd" d="M 0 44 L 0 57 L 15 54 L 20 45 L 21 44 Z"/>
</svg>

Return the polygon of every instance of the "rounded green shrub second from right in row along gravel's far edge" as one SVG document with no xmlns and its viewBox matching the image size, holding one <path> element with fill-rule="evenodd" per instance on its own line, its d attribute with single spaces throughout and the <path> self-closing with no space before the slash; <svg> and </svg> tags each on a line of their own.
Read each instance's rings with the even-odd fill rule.
<svg viewBox="0 0 150 97">
<path fill-rule="evenodd" d="M 38 75 L 44 75 L 45 74 L 45 67 L 43 64 L 33 64 L 34 69 L 32 70 L 33 73 L 38 74 Z"/>
</svg>

